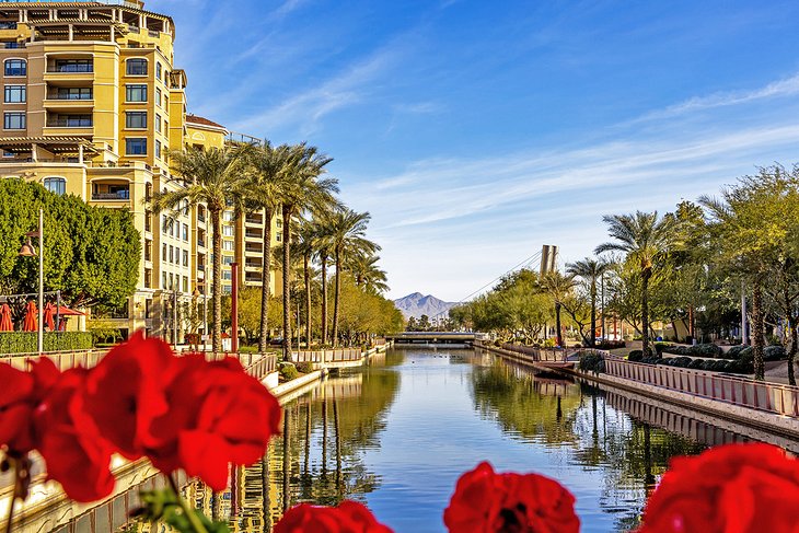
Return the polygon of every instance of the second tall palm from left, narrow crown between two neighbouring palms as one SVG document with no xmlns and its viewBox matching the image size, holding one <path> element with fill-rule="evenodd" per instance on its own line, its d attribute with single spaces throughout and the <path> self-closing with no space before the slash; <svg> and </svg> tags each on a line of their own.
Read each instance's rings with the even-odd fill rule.
<svg viewBox="0 0 799 533">
<path fill-rule="evenodd" d="M 250 210 L 263 210 L 264 244 L 260 273 L 260 336 L 258 351 L 266 351 L 269 334 L 269 294 L 271 271 L 271 220 L 280 207 L 281 181 L 288 169 L 291 147 L 274 147 L 269 141 L 247 152 L 247 179 L 243 183 L 243 202 Z"/>
</svg>

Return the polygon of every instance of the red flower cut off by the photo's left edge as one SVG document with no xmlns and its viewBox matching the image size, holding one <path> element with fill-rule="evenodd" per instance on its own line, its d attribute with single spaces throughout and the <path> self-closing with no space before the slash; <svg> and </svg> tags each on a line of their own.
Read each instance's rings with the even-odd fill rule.
<svg viewBox="0 0 799 533">
<path fill-rule="evenodd" d="M 0 363 L 0 447 L 10 453 L 24 455 L 38 445 L 33 415 L 43 396 L 59 376 L 49 359 L 32 362 L 31 372 Z"/>
</svg>

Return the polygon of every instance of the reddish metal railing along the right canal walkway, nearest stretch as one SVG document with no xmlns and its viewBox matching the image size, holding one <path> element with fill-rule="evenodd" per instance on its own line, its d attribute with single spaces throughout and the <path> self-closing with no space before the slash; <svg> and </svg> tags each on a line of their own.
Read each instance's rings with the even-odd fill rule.
<svg viewBox="0 0 799 533">
<path fill-rule="evenodd" d="M 741 407 L 799 417 L 799 387 L 718 375 L 714 372 L 605 358 L 605 372 L 615 378 L 716 399 Z"/>
</svg>

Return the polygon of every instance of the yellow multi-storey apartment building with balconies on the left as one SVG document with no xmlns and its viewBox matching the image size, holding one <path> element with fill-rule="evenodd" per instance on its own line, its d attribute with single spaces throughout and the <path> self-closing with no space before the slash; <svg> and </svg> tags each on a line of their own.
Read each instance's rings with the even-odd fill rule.
<svg viewBox="0 0 799 533">
<path fill-rule="evenodd" d="M 180 340 L 189 309 L 201 312 L 210 294 L 210 221 L 202 206 L 157 216 L 148 200 L 178 186 L 169 182 L 170 150 L 221 148 L 229 132 L 187 115 L 174 39 L 172 19 L 141 1 L 0 0 L 0 176 L 129 209 L 141 234 L 139 281 L 128 305 L 107 320 L 124 333 L 146 328 Z M 256 277 L 259 285 L 252 243 L 268 223 L 232 215 L 222 227 L 228 290 L 232 263 L 241 265 L 242 285 Z"/>
</svg>

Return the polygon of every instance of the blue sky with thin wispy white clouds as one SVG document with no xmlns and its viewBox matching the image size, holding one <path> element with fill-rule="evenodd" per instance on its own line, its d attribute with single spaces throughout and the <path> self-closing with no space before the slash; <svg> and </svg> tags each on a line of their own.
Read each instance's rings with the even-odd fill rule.
<svg viewBox="0 0 799 533">
<path fill-rule="evenodd" d="M 460 300 L 602 215 L 799 162 L 795 1 L 148 1 L 189 111 L 335 158 L 390 296 Z"/>
</svg>

